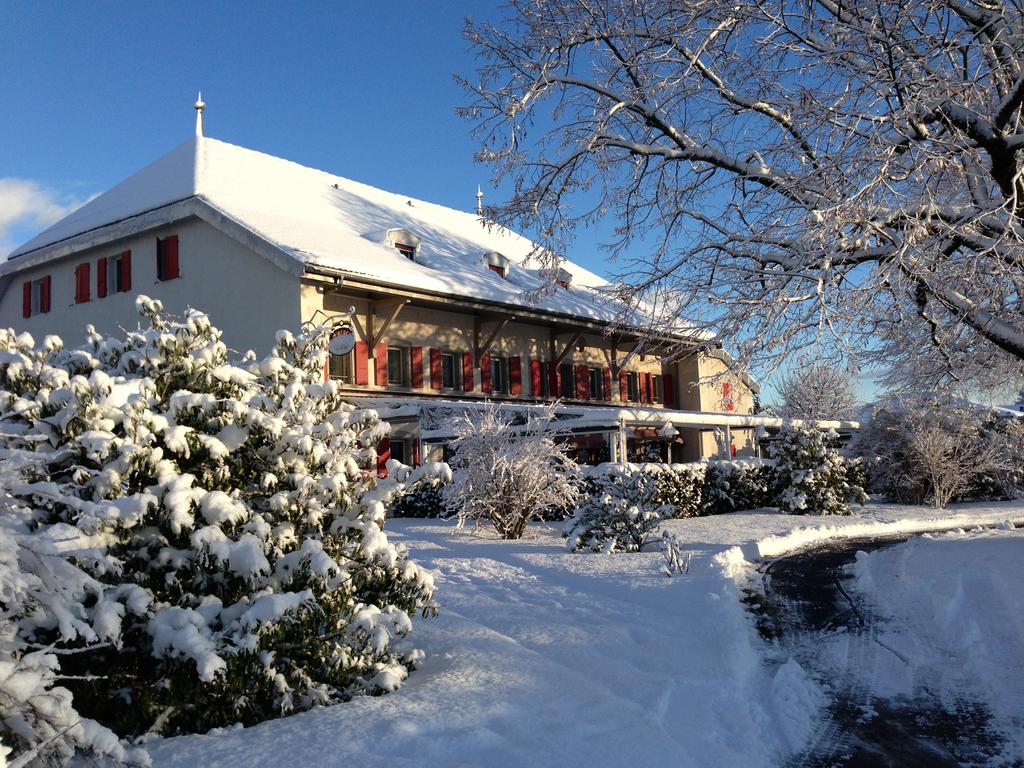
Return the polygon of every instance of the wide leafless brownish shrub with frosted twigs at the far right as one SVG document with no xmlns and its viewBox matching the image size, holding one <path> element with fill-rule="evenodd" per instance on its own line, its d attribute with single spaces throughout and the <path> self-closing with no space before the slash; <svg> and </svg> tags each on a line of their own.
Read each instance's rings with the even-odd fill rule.
<svg viewBox="0 0 1024 768">
<path fill-rule="evenodd" d="M 1024 490 L 1024 421 L 948 398 L 876 407 L 854 439 L 869 488 L 893 501 L 945 507 Z"/>
</svg>

